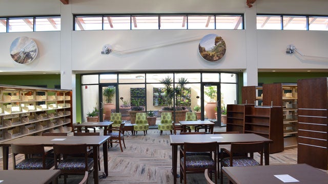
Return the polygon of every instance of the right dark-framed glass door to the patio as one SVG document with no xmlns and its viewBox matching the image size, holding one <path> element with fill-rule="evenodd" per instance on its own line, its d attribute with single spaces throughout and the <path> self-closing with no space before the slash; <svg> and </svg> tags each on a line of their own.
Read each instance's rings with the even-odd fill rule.
<svg viewBox="0 0 328 184">
<path fill-rule="evenodd" d="M 215 126 L 221 126 L 221 96 L 220 83 L 203 83 L 202 84 L 202 120 L 215 122 Z"/>
</svg>

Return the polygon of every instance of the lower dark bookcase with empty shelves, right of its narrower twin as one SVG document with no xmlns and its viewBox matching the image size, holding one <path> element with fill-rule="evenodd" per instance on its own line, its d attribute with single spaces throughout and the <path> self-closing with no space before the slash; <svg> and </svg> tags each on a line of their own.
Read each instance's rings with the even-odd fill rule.
<svg viewBox="0 0 328 184">
<path fill-rule="evenodd" d="M 245 106 L 244 133 L 271 139 L 270 153 L 283 151 L 282 107 Z"/>
</svg>

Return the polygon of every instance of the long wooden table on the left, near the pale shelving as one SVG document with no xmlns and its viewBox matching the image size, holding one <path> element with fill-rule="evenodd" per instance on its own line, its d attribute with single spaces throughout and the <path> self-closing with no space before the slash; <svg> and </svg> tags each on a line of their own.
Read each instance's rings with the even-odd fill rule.
<svg viewBox="0 0 328 184">
<path fill-rule="evenodd" d="M 3 147 L 3 168 L 8 170 L 8 155 L 9 147 L 11 144 L 43 144 L 44 146 L 51 147 L 53 144 L 87 144 L 93 147 L 93 160 L 94 160 L 94 183 L 98 184 L 98 147 L 103 145 L 104 152 L 104 168 L 105 174 L 108 176 L 108 147 L 107 141 L 110 136 L 24 136 L 18 139 L 0 143 Z M 53 141 L 54 139 L 64 139 L 63 141 Z"/>
</svg>

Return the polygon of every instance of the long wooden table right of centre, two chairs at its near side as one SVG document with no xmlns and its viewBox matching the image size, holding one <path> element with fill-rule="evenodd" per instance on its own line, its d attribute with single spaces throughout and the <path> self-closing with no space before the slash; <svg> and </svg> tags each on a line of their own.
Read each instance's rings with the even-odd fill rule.
<svg viewBox="0 0 328 184">
<path fill-rule="evenodd" d="M 273 141 L 254 133 L 238 133 L 238 134 L 187 134 L 187 135 L 170 135 L 170 145 L 172 146 L 172 167 L 174 183 L 177 178 L 177 159 L 178 146 L 185 142 L 207 143 L 216 141 L 218 145 L 231 143 L 248 143 L 263 141 L 264 144 L 264 163 L 269 165 L 269 143 Z"/>
</svg>

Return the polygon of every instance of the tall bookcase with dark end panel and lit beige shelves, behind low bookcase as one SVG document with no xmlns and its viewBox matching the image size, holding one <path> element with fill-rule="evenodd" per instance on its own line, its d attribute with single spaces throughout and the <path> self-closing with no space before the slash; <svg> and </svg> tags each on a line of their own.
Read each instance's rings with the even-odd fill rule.
<svg viewBox="0 0 328 184">
<path fill-rule="evenodd" d="M 297 147 L 297 84 L 263 84 L 263 106 L 283 108 L 284 149 Z"/>
</svg>

